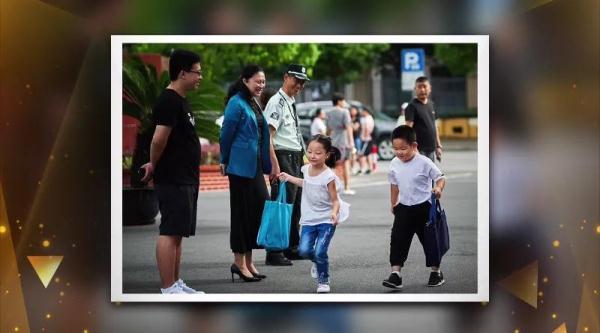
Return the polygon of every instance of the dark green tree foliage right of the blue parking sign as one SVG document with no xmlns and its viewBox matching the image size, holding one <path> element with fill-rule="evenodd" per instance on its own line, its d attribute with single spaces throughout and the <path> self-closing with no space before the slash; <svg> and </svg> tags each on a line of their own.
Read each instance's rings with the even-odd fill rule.
<svg viewBox="0 0 600 333">
<path fill-rule="evenodd" d="M 435 44 L 433 56 L 454 76 L 465 76 L 477 70 L 477 44 Z"/>
</svg>

